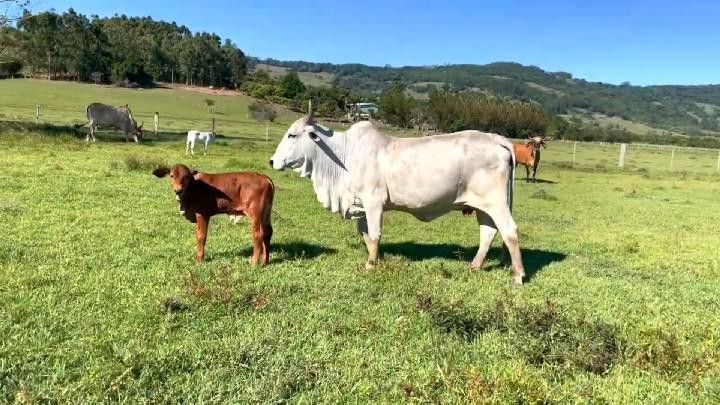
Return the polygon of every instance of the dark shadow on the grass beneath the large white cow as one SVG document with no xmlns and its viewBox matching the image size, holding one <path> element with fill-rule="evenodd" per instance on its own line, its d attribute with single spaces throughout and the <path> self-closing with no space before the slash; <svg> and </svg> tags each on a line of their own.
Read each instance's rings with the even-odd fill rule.
<svg viewBox="0 0 720 405">
<path fill-rule="evenodd" d="M 454 258 L 468 263 L 475 257 L 477 246 L 463 247 L 455 244 L 423 244 L 415 242 L 386 243 L 380 244 L 380 252 L 384 254 L 397 255 L 413 261 L 427 259 L 449 259 Z M 538 249 L 520 248 L 525 265 L 525 281 L 532 280 L 535 275 L 545 267 L 555 262 L 561 262 L 567 257 L 564 253 L 549 252 Z M 488 252 L 487 260 L 498 260 L 505 266 L 510 264 L 510 257 L 504 248 L 493 247 Z M 493 267 L 483 267 L 491 270 Z"/>
</svg>

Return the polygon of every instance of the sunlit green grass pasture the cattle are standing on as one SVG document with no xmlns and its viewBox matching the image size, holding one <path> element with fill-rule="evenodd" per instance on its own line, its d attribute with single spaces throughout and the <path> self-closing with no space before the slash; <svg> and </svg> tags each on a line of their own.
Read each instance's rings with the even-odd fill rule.
<svg viewBox="0 0 720 405">
<path fill-rule="evenodd" d="M 17 122 L 34 121 L 18 106 L 36 99 L 56 124 L 79 122 L 62 111 L 101 97 L 178 119 L 140 145 Z M 478 227 L 460 213 L 389 213 L 384 260 L 366 271 L 354 223 L 268 167 L 290 116 L 267 145 L 247 99 L 219 99 L 225 138 L 184 155 L 204 98 L 0 81 L 13 121 L 0 121 L 0 402 L 720 401 L 712 170 L 669 172 L 648 153 L 618 171 L 601 147 L 572 169 L 551 143 L 542 181 L 517 182 L 525 286 L 510 286 L 498 241 L 485 270 L 468 270 Z M 226 217 L 194 263 L 194 225 L 150 174 L 176 162 L 273 178 L 269 266 L 250 266 L 248 223 Z"/>
</svg>

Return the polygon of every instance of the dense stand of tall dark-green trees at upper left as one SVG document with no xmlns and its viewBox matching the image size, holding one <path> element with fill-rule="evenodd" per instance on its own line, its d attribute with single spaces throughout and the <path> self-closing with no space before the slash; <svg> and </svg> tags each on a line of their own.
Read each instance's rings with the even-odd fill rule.
<svg viewBox="0 0 720 405">
<path fill-rule="evenodd" d="M 43 12 L 3 28 L 3 36 L 14 50 L 5 75 L 237 88 L 247 73 L 247 58 L 232 41 L 150 17 Z"/>
</svg>

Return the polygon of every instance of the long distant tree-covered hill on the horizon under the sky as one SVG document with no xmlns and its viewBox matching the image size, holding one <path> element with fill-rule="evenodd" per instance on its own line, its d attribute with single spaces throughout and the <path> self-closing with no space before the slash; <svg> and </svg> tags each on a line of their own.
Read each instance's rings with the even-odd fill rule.
<svg viewBox="0 0 720 405">
<path fill-rule="evenodd" d="M 312 84 L 312 77 L 315 84 L 317 80 L 325 85 L 336 83 L 366 96 L 380 94 L 399 78 L 418 99 L 426 98 L 433 87 L 449 86 L 535 101 L 556 114 L 599 125 L 610 123 L 637 133 L 665 130 L 720 135 L 720 85 L 617 86 L 517 63 L 393 68 L 264 60 L 257 67 L 275 72 L 294 69 L 308 84 Z"/>
</svg>

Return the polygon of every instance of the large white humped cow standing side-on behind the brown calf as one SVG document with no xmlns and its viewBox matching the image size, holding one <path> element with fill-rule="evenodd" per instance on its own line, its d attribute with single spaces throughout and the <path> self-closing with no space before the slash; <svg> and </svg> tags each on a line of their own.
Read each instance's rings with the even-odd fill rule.
<svg viewBox="0 0 720 405">
<path fill-rule="evenodd" d="M 513 282 L 522 284 L 525 272 L 510 212 L 515 154 L 500 135 L 462 131 L 395 138 L 370 122 L 336 132 L 318 125 L 311 108 L 307 118 L 290 126 L 270 165 L 310 177 L 325 208 L 358 219 L 367 268 L 378 259 L 384 211 L 404 211 L 427 222 L 450 211 L 475 210 L 480 246 L 472 268 L 483 265 L 499 230 L 512 258 Z"/>
</svg>

